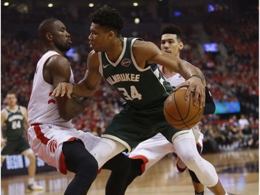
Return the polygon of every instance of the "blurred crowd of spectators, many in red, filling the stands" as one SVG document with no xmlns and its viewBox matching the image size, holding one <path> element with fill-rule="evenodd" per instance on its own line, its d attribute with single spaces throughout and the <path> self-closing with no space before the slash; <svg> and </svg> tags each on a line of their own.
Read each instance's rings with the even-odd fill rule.
<svg viewBox="0 0 260 195">
<path fill-rule="evenodd" d="M 14 17 L 16 20 L 19 17 Z M 35 21 L 28 19 L 28 21 Z M 64 21 L 66 23 L 66 21 Z M 214 25 L 212 25 L 214 24 Z M 217 42 L 217 53 L 201 52 L 200 33 L 189 24 L 182 29 L 184 49 L 181 58 L 202 69 L 214 101 L 240 101 L 241 112 L 231 115 L 210 115 L 201 124 L 205 135 L 204 151 L 218 152 L 243 148 L 258 148 L 259 143 L 259 27 L 258 19 L 245 15 L 229 19 L 208 19 L 200 24 L 209 42 Z M 70 31 L 70 29 L 67 29 Z M 35 31 L 34 31 L 35 32 Z M 132 32 L 159 46 L 160 36 L 153 33 Z M 67 55 L 76 82 L 83 78 L 89 45 L 87 36 L 71 34 L 74 53 Z M 27 106 L 37 60 L 44 53 L 37 36 L 28 33 L 1 32 L 1 107 L 6 93 L 14 90 L 19 103 Z M 119 112 L 123 99 L 105 80 L 91 105 L 73 119 L 77 129 L 101 135 L 112 117 Z"/>
</svg>

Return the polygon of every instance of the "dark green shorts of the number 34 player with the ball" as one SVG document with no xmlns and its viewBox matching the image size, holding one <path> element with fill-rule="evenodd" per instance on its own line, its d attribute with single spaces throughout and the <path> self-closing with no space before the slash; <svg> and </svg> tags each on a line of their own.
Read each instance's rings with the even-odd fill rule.
<svg viewBox="0 0 260 195">
<path fill-rule="evenodd" d="M 125 103 L 123 110 L 114 116 L 103 137 L 116 139 L 133 149 L 137 144 L 157 133 L 162 133 L 172 143 L 173 135 L 180 131 L 166 121 L 164 103 L 149 109 L 132 108 Z M 129 147 L 127 148 L 129 152 Z"/>
</svg>

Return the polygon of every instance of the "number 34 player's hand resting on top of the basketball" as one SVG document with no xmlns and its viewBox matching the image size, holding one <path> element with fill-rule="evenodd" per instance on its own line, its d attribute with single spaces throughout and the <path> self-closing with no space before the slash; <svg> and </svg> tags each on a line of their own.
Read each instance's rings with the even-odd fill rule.
<svg viewBox="0 0 260 195">
<path fill-rule="evenodd" d="M 185 95 L 185 99 L 189 99 L 189 94 L 193 92 L 193 104 L 196 105 L 198 103 L 198 98 L 200 97 L 200 108 L 204 108 L 205 106 L 205 86 L 203 85 L 200 78 L 193 76 L 186 80 L 184 83 L 177 85 L 174 91 L 179 90 L 182 87 L 187 87 L 187 93 Z"/>
</svg>

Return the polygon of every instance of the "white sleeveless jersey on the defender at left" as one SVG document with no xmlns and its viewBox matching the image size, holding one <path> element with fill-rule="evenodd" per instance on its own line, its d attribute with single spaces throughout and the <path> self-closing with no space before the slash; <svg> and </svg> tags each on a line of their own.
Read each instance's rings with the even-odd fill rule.
<svg viewBox="0 0 260 195">
<path fill-rule="evenodd" d="M 28 122 L 30 124 L 55 124 L 67 128 L 73 127 L 71 121 L 65 121 L 60 117 L 58 105 L 53 92 L 53 85 L 46 83 L 43 78 L 44 64 L 51 56 L 60 55 L 56 51 L 47 51 L 37 63 L 33 78 L 33 90 L 28 104 Z M 71 71 L 70 83 L 74 83 Z"/>
</svg>

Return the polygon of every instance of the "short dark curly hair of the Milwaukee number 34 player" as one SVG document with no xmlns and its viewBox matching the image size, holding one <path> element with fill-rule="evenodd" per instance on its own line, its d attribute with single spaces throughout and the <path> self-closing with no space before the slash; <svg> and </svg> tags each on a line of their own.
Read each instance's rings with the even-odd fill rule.
<svg viewBox="0 0 260 195">
<path fill-rule="evenodd" d="M 120 12 L 114 8 L 110 8 L 105 5 L 98 8 L 95 12 L 89 15 L 89 19 L 95 24 L 105 26 L 108 29 L 112 29 L 116 32 L 116 35 L 121 35 L 121 30 L 123 28 L 123 18 Z"/>
</svg>

